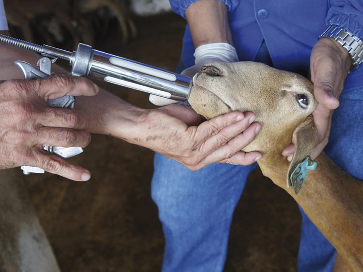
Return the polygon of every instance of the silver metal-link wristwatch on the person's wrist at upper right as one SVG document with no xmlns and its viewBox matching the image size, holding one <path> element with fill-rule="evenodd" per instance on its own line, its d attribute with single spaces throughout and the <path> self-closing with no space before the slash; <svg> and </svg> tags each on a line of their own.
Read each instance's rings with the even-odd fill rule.
<svg viewBox="0 0 363 272">
<path fill-rule="evenodd" d="M 363 40 L 338 25 L 330 25 L 320 36 L 331 37 L 339 42 L 351 58 L 350 72 L 363 62 Z"/>
</svg>

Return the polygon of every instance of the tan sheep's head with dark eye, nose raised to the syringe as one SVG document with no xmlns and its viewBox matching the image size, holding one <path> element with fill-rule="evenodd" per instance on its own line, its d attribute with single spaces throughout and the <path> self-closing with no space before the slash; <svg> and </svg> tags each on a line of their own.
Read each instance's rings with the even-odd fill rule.
<svg viewBox="0 0 363 272">
<path fill-rule="evenodd" d="M 285 186 L 299 191 L 303 180 L 292 181 L 290 177 L 310 156 L 316 137 L 311 113 L 317 102 L 309 80 L 257 62 L 212 62 L 194 76 L 188 101 L 207 119 L 233 110 L 254 112 L 262 128 L 243 151 L 261 152 L 260 166 L 288 164 L 281 153 L 291 142 L 295 144 Z"/>
</svg>

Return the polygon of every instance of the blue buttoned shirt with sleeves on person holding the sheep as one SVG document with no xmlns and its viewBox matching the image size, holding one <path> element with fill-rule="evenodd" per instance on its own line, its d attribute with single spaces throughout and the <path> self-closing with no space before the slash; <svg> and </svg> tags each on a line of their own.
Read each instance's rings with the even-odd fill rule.
<svg viewBox="0 0 363 272">
<path fill-rule="evenodd" d="M 196 0 L 170 0 L 172 9 L 185 18 Z M 306 74 L 310 54 L 319 35 L 339 25 L 363 38 L 362 0 L 220 0 L 228 8 L 229 26 L 239 60 L 254 60 L 265 39 L 274 67 Z M 194 64 L 194 45 L 187 26 L 181 60 Z M 345 89 L 363 86 L 363 63 L 348 75 Z"/>
</svg>

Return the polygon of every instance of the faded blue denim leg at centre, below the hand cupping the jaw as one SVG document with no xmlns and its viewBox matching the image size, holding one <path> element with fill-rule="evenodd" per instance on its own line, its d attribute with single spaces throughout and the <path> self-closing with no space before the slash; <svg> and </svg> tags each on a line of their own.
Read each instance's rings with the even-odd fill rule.
<svg viewBox="0 0 363 272">
<path fill-rule="evenodd" d="M 163 271 L 222 271 L 234 208 L 256 167 L 212 164 L 190 171 L 156 154 L 152 198 L 165 236 Z"/>
</svg>

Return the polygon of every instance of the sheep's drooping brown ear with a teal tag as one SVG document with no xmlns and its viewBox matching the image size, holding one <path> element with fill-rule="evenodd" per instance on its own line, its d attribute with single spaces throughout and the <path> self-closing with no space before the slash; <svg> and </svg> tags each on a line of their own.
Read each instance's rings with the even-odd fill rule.
<svg viewBox="0 0 363 272">
<path fill-rule="evenodd" d="M 287 187 L 293 187 L 295 194 L 304 184 L 308 170 L 315 170 L 316 162 L 310 158 L 315 145 L 316 127 L 312 115 L 296 127 L 292 134 L 295 152 L 287 171 Z"/>
</svg>

